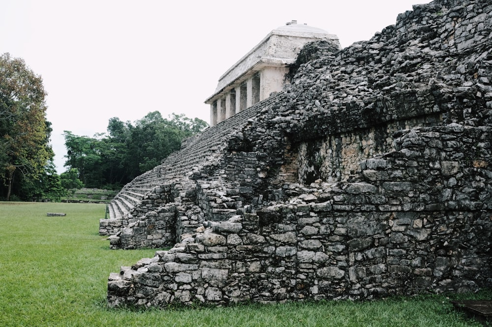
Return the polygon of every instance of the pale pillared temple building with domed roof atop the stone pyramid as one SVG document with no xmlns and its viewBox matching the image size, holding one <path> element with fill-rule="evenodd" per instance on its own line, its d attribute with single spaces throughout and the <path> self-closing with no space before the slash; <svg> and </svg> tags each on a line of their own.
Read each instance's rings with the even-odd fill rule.
<svg viewBox="0 0 492 327">
<path fill-rule="evenodd" d="M 340 49 L 336 35 L 297 21 L 272 30 L 220 77 L 214 94 L 205 100 L 210 105 L 210 125 L 280 91 L 288 83 L 289 67 L 301 48 L 316 40 L 329 41 Z"/>
</svg>

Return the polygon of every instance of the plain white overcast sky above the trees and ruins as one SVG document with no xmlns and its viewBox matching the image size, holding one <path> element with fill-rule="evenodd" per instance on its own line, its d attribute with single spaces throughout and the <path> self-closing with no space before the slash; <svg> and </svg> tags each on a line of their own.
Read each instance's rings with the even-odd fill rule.
<svg viewBox="0 0 492 327">
<path fill-rule="evenodd" d="M 48 92 L 59 173 L 63 130 L 158 110 L 210 122 L 218 78 L 286 22 L 327 30 L 342 47 L 369 40 L 430 0 L 0 0 L 0 54 L 24 59 Z"/>
</svg>

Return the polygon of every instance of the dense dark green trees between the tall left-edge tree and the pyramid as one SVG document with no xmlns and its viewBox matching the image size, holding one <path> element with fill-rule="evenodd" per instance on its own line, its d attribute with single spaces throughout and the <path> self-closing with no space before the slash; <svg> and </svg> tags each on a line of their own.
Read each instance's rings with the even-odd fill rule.
<svg viewBox="0 0 492 327">
<path fill-rule="evenodd" d="M 107 134 L 77 136 L 65 131 L 65 167 L 77 169 L 86 187 L 117 189 L 159 165 L 181 141 L 208 126 L 204 120 L 158 111 L 134 122 L 109 119 Z"/>
</svg>

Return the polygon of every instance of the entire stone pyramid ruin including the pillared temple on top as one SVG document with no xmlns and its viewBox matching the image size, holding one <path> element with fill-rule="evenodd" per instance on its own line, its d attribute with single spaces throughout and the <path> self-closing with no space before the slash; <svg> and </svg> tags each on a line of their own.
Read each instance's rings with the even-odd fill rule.
<svg viewBox="0 0 492 327">
<path fill-rule="evenodd" d="M 206 100 L 212 126 L 111 202 L 110 247 L 156 252 L 111 273 L 108 305 L 490 288 L 491 16 L 434 0 L 344 49 L 273 30 Z"/>
</svg>

